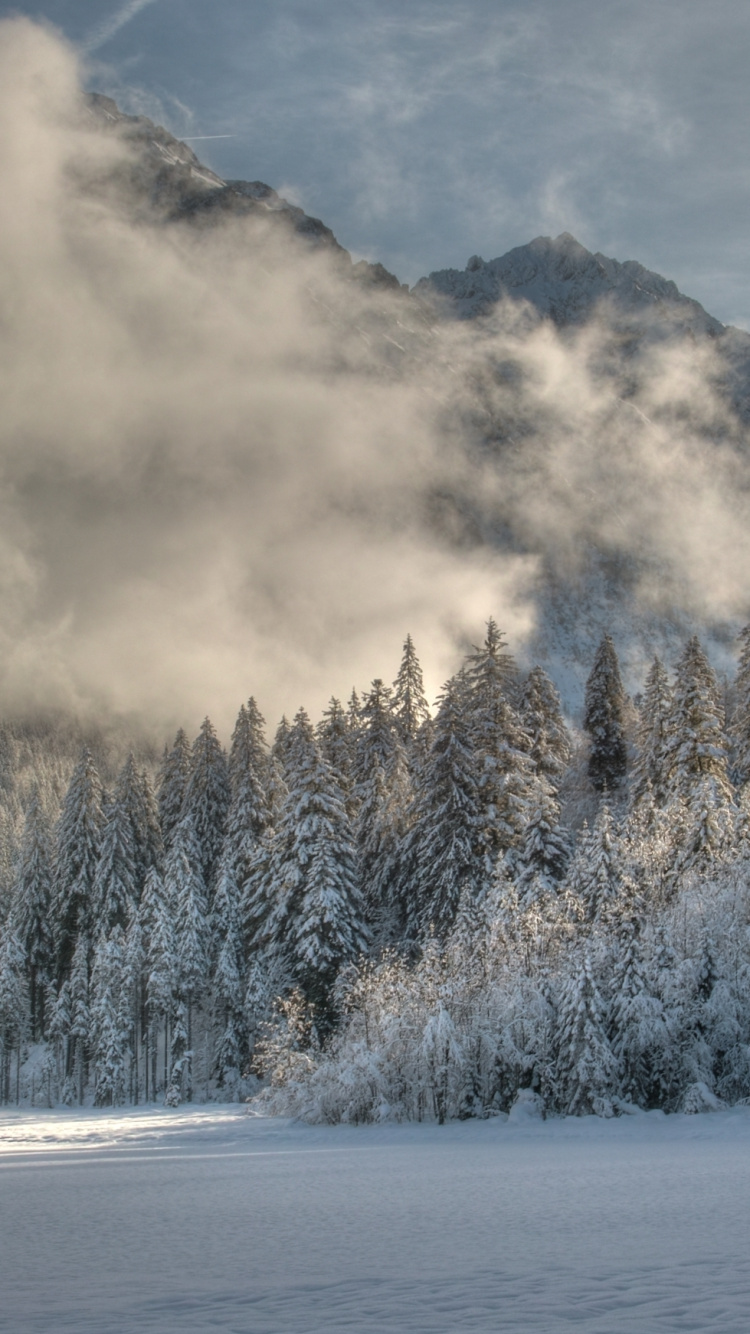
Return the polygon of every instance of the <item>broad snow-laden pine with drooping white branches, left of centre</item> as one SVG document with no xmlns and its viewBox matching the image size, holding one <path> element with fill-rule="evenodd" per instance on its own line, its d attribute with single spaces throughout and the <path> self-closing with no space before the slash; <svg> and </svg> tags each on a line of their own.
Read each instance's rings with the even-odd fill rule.
<svg viewBox="0 0 750 1334">
<path fill-rule="evenodd" d="M 338 968 L 367 946 L 354 840 L 340 790 L 304 710 L 288 736 L 288 795 L 270 864 L 266 938 L 292 960 L 324 1018 Z"/>
</svg>

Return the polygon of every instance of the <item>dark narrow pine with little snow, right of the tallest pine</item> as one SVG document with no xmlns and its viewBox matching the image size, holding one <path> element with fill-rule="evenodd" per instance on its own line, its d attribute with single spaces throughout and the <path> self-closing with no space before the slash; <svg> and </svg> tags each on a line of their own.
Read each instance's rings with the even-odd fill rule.
<svg viewBox="0 0 750 1334">
<path fill-rule="evenodd" d="M 605 635 L 586 682 L 583 727 L 591 739 L 589 778 L 597 791 L 614 792 L 627 768 L 625 690 L 615 646 Z"/>
</svg>

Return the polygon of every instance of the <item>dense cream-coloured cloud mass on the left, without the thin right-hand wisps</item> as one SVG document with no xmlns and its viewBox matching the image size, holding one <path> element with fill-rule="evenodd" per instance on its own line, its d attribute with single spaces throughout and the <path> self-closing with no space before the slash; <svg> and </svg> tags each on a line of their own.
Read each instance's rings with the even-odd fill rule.
<svg viewBox="0 0 750 1334">
<path fill-rule="evenodd" d="M 408 631 L 434 692 L 492 611 L 520 639 L 534 563 L 428 522 L 456 463 L 388 371 L 411 313 L 278 232 L 131 224 L 73 53 L 1 37 L 5 707 L 228 727 L 395 675 Z"/>
</svg>

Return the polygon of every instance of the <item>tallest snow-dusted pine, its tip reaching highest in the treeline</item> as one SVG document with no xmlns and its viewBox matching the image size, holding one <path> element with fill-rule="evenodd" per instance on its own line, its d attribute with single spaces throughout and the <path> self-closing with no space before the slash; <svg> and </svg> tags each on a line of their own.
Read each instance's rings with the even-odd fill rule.
<svg viewBox="0 0 750 1334">
<path fill-rule="evenodd" d="M 519 839 L 528 815 L 531 762 L 530 738 L 510 702 L 515 666 L 495 622 L 487 622 L 482 648 L 466 660 L 466 716 L 478 759 L 480 838 L 484 846 L 484 880 L 494 864 Z"/>
</svg>

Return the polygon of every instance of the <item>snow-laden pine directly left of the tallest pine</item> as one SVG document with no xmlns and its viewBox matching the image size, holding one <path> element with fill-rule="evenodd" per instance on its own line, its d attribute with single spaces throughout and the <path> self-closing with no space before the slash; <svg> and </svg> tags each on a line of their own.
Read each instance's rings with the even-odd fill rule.
<svg viewBox="0 0 750 1334">
<path fill-rule="evenodd" d="M 484 840 L 476 751 L 466 714 L 462 676 L 443 687 L 432 744 L 415 794 L 399 871 L 407 938 L 432 927 L 446 935 L 463 894 L 484 883 Z"/>
</svg>

